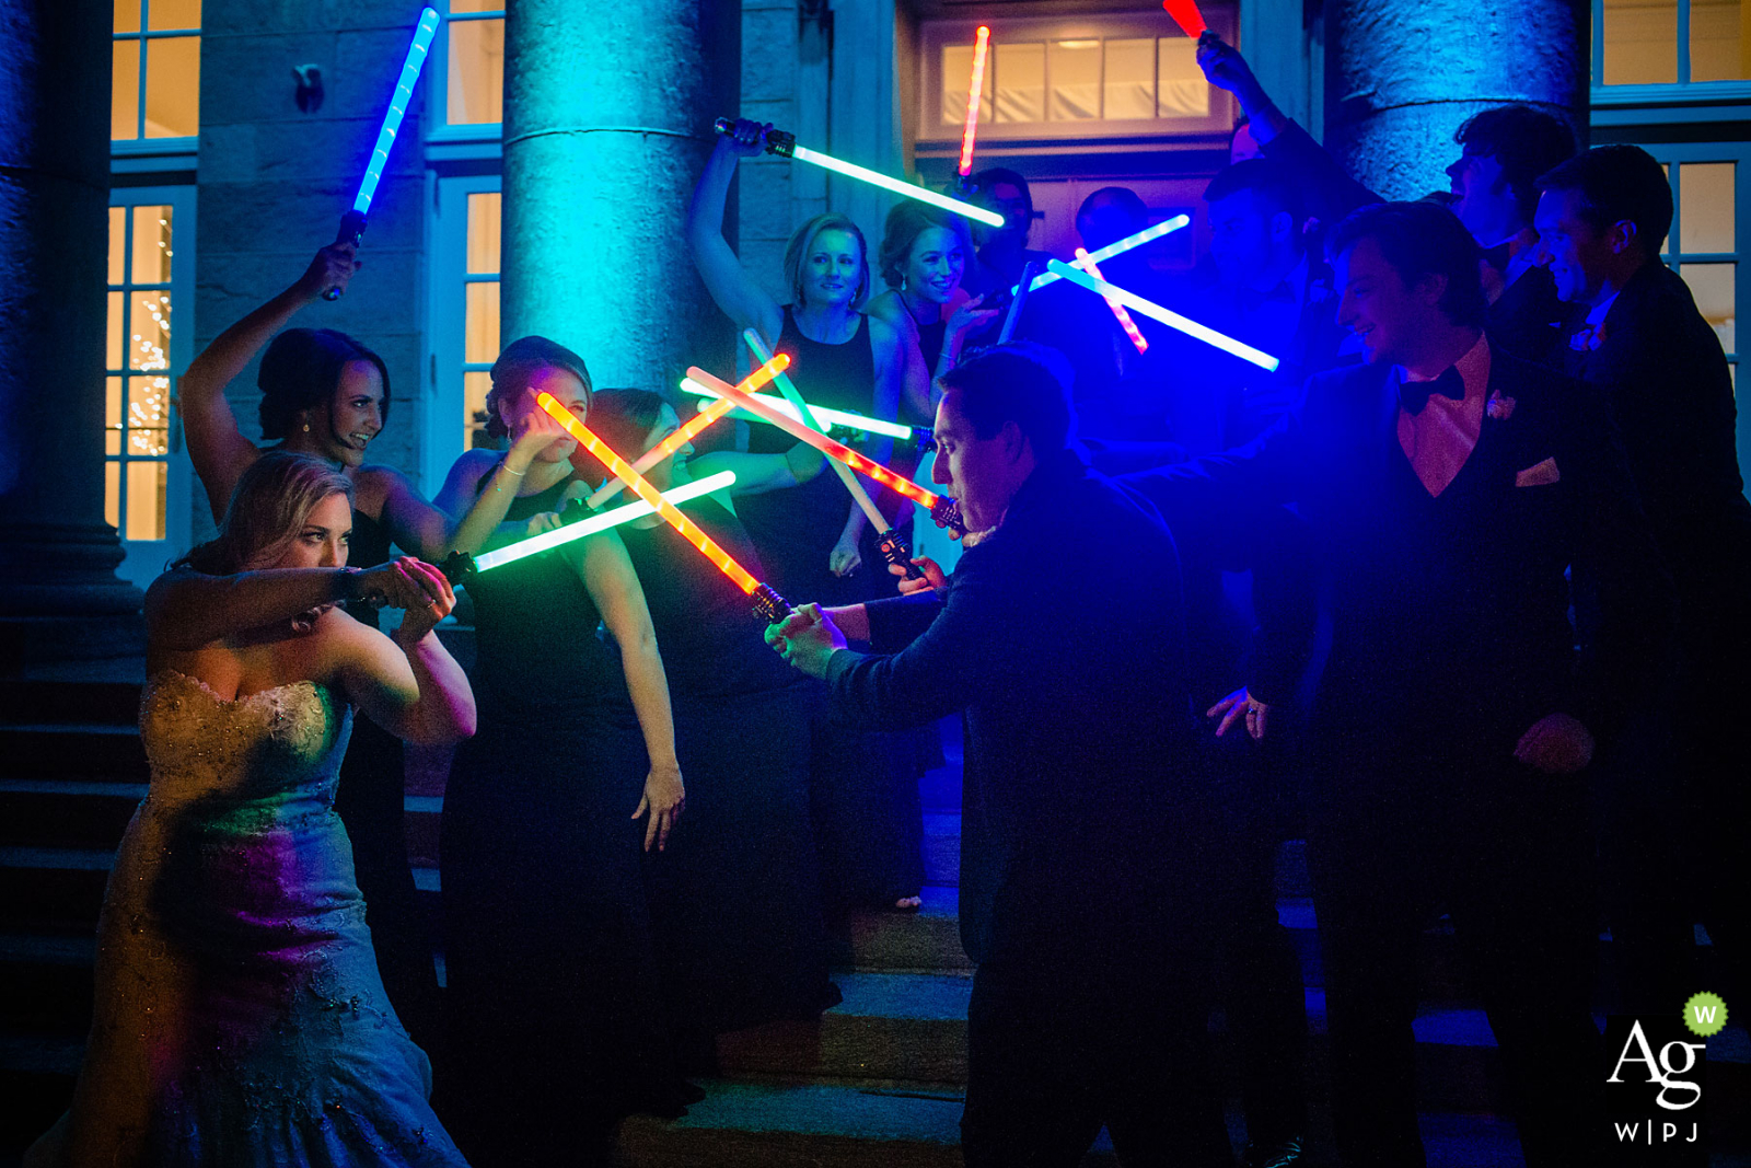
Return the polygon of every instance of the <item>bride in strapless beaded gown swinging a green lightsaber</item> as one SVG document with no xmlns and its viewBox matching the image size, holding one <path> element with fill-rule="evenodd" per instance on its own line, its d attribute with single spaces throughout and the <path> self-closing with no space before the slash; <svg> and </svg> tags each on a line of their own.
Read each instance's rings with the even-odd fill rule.
<svg viewBox="0 0 1751 1168">
<path fill-rule="evenodd" d="M 74 1105 L 26 1168 L 464 1163 L 383 995 L 333 802 L 354 706 L 450 744 L 475 699 L 432 634 L 450 585 L 408 557 L 347 569 L 350 529 L 345 476 L 266 454 L 219 538 L 147 592 L 152 781 L 103 897 Z M 408 609 L 392 636 L 336 608 L 373 594 Z"/>
</svg>

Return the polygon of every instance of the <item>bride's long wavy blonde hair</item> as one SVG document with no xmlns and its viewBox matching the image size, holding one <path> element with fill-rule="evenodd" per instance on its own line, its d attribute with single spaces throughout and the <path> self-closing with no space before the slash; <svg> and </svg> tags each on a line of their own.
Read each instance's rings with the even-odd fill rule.
<svg viewBox="0 0 1751 1168">
<path fill-rule="evenodd" d="M 257 571 L 280 562 L 324 499 L 347 496 L 352 480 L 322 459 L 289 450 L 268 450 L 256 459 L 231 492 L 219 536 L 193 548 L 173 567 L 208 576 Z"/>
</svg>

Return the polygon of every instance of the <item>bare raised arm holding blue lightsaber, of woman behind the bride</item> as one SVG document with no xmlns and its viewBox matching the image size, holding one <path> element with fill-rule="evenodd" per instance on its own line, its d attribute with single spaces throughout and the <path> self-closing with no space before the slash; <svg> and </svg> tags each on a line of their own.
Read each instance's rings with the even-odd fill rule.
<svg viewBox="0 0 1751 1168">
<path fill-rule="evenodd" d="M 345 289 L 357 268 L 352 243 L 329 243 L 296 284 L 221 333 L 177 380 L 177 410 L 189 440 L 189 461 L 207 487 L 215 520 L 224 517 L 231 489 L 257 455 L 256 445 L 236 426 L 224 396 L 226 385 L 299 308 L 331 287 Z"/>
</svg>

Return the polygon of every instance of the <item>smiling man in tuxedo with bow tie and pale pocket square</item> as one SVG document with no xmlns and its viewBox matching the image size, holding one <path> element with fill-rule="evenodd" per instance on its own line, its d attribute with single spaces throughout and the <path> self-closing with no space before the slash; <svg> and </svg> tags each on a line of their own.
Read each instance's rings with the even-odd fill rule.
<svg viewBox="0 0 1751 1168">
<path fill-rule="evenodd" d="M 1592 1163 L 1578 772 L 1660 637 L 1658 553 L 1581 387 L 1485 338 L 1476 243 L 1448 210 L 1362 208 L 1331 254 L 1366 364 L 1315 376 L 1250 447 L 1126 482 L 1217 511 L 1294 501 L 1320 553 L 1333 632 L 1308 844 L 1345 1163 L 1424 1163 L 1411 1019 L 1441 909 L 1474 958 L 1527 1163 Z M 1599 580 L 1581 662 L 1571 564 Z"/>
</svg>

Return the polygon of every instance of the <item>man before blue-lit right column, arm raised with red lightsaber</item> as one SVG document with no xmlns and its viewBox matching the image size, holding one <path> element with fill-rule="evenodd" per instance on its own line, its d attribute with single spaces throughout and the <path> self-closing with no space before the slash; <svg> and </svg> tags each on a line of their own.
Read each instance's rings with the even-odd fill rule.
<svg viewBox="0 0 1751 1168">
<path fill-rule="evenodd" d="M 1331 224 L 1380 201 L 1276 109 L 1233 46 L 1206 35 L 1198 42 L 1198 65 L 1212 86 L 1240 100 L 1259 149 L 1296 175 L 1315 219 Z M 1564 313 L 1550 277 L 1536 263 L 1536 182 L 1574 154 L 1574 131 L 1530 105 L 1497 105 L 1467 119 L 1453 140 L 1460 154 L 1446 168 L 1452 210 L 1483 249 L 1490 340 L 1516 357 L 1546 361 L 1558 343 Z"/>
</svg>

